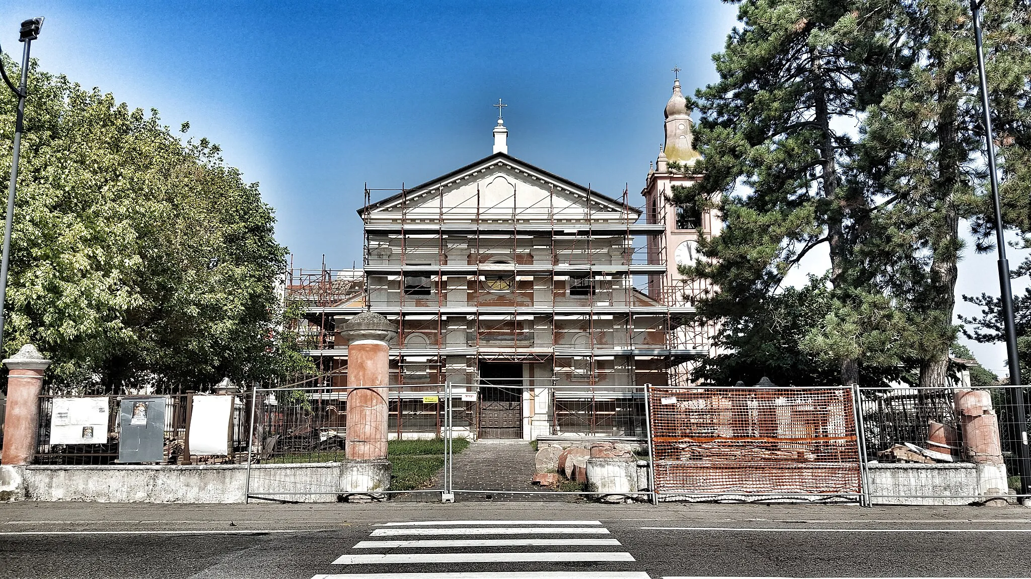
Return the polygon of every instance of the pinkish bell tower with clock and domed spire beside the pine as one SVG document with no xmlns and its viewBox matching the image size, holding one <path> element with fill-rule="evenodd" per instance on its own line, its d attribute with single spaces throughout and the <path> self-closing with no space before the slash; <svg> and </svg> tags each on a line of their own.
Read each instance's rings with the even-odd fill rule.
<svg viewBox="0 0 1031 579">
<path fill-rule="evenodd" d="M 674 68 L 674 73 L 679 69 Z M 673 79 L 673 94 L 665 109 L 666 140 L 659 151 L 655 168 L 648 171 L 644 196 L 648 224 L 665 225 L 660 239 L 651 237 L 648 263 L 665 264 L 665 274 L 648 276 L 648 295 L 670 306 L 690 306 L 702 291 L 699 282 L 686 279 L 678 265 L 692 265 L 698 257 L 698 239 L 719 233 L 720 215 L 693 204 L 676 205 L 673 190 L 691 186 L 702 175 L 694 171 L 701 156 L 692 142 L 691 110 L 680 92 L 679 78 Z"/>
</svg>

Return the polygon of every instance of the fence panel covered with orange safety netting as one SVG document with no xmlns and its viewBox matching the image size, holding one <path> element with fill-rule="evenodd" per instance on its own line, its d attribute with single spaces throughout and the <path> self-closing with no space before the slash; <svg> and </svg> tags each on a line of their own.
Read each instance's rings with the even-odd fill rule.
<svg viewBox="0 0 1031 579">
<path fill-rule="evenodd" d="M 656 501 L 863 498 L 852 388 L 650 387 Z"/>
</svg>

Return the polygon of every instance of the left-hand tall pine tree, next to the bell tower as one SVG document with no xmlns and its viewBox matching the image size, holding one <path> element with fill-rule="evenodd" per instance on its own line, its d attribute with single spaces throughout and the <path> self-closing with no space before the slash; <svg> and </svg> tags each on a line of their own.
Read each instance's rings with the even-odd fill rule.
<svg viewBox="0 0 1031 579">
<path fill-rule="evenodd" d="M 709 259 L 685 268 L 720 288 L 699 304 L 701 318 L 744 318 L 803 258 L 828 256 L 827 310 L 795 340 L 833 361 L 844 384 L 862 365 L 896 366 L 908 330 L 884 291 L 894 258 L 864 249 L 883 185 L 856 168 L 855 128 L 908 64 L 903 39 L 888 33 L 897 16 L 888 1 L 740 2 L 741 26 L 713 57 L 720 80 L 697 93 L 704 178 L 674 192 L 724 216 L 702 243 Z"/>
</svg>

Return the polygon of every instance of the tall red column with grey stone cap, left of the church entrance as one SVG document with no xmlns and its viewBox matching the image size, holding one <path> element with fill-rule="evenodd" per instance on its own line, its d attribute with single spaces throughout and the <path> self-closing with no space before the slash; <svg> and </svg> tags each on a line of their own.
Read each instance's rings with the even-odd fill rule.
<svg viewBox="0 0 1031 579">
<path fill-rule="evenodd" d="M 384 316 L 362 312 L 340 327 L 347 342 L 348 459 L 387 458 L 388 384 L 390 340 L 397 328 Z"/>
</svg>

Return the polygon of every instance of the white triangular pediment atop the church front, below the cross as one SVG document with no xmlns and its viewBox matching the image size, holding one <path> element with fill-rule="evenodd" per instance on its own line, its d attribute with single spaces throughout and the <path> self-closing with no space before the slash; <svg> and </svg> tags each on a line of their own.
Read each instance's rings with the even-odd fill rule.
<svg viewBox="0 0 1031 579">
<path fill-rule="evenodd" d="M 396 219 L 536 222 L 632 220 L 638 209 L 505 154 L 406 189 L 359 210 L 369 222 Z"/>
</svg>

